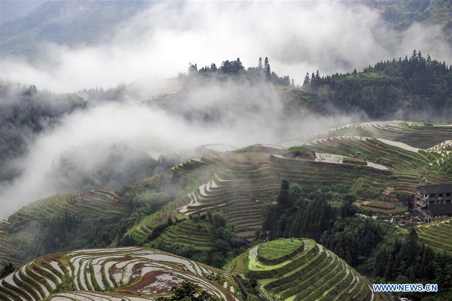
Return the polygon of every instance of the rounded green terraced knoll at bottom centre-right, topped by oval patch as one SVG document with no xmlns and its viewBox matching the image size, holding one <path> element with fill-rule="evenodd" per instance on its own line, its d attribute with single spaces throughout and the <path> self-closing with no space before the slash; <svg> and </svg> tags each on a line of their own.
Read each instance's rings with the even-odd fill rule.
<svg viewBox="0 0 452 301">
<path fill-rule="evenodd" d="M 311 239 L 301 239 L 301 248 L 278 256 L 284 244 L 296 238 L 278 239 L 252 247 L 228 263 L 224 269 L 258 280 L 267 294 L 283 300 L 379 300 L 368 282 L 342 258 Z M 288 248 L 293 249 L 293 248 Z M 260 254 L 274 254 L 264 263 Z"/>
</svg>

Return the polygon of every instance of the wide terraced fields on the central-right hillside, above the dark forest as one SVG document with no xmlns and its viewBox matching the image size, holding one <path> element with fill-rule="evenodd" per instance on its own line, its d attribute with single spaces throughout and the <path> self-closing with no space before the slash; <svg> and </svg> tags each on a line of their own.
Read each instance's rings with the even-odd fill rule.
<svg viewBox="0 0 452 301">
<path fill-rule="evenodd" d="M 236 225 L 239 236 L 249 237 L 262 222 L 260 197 L 277 192 L 283 178 L 319 189 L 344 184 L 368 200 L 383 196 L 403 207 L 398 193 L 411 194 L 419 184 L 452 181 L 452 153 L 445 139 L 450 136 L 452 125 L 368 122 L 314 134 L 310 142 L 238 149 L 207 163 L 212 178 L 185 197 L 178 213 L 221 212 Z M 286 147 L 295 145 L 312 149 L 315 159 L 291 157 Z M 429 148 L 418 148 L 425 146 Z"/>
</svg>

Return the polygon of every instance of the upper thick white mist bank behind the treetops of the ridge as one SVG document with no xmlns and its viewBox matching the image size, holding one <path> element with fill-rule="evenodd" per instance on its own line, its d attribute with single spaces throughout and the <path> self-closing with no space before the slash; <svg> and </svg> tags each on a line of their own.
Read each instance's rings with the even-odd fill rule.
<svg viewBox="0 0 452 301">
<path fill-rule="evenodd" d="M 118 24 L 95 46 L 42 41 L 39 59 L 2 57 L 1 77 L 57 92 L 113 87 L 138 79 L 170 78 L 198 66 L 240 57 L 301 84 L 306 72 L 350 72 L 413 49 L 450 60 L 435 27 L 386 28 L 381 15 L 355 2 L 153 3 Z M 152 78 L 152 79 L 151 79 Z"/>
</svg>

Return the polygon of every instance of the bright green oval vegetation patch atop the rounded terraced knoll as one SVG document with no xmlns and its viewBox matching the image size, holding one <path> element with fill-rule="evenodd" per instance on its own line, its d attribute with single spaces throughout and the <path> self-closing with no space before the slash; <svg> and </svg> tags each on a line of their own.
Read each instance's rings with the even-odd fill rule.
<svg viewBox="0 0 452 301">
<path fill-rule="evenodd" d="M 302 247 L 303 242 L 298 239 L 272 240 L 259 245 L 257 258 L 268 265 L 278 264 L 294 256 Z"/>
</svg>

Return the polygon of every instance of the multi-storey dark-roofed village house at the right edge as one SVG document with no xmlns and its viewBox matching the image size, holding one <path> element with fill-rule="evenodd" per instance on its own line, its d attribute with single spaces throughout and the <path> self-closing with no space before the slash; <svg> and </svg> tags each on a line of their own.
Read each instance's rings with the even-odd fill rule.
<svg viewBox="0 0 452 301">
<path fill-rule="evenodd" d="M 452 183 L 422 185 L 415 188 L 413 213 L 425 222 L 452 217 Z"/>
</svg>

